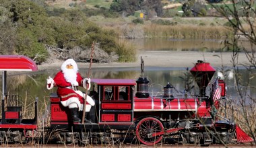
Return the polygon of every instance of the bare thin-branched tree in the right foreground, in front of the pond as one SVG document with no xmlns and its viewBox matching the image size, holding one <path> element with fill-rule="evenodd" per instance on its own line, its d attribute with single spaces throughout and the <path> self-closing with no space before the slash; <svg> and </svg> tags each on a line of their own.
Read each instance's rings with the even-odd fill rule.
<svg viewBox="0 0 256 148">
<path fill-rule="evenodd" d="M 238 100 L 230 100 L 235 108 L 234 113 L 238 114 L 235 120 L 238 124 L 243 126 L 245 131 L 253 137 L 256 143 L 256 98 L 249 94 L 249 89 L 254 87 L 250 84 L 252 77 L 255 77 L 256 59 L 255 59 L 255 46 L 256 46 L 256 28 L 255 28 L 255 1 L 234 1 L 232 5 L 212 5 L 221 15 L 228 20 L 233 34 L 231 38 L 226 38 L 224 41 L 224 49 L 232 50 L 232 71 L 234 71 L 234 79 L 236 81 L 235 87 L 238 93 Z M 251 43 L 251 48 L 245 48 L 238 45 L 238 41 L 243 38 Z M 248 63 L 238 63 L 239 54 L 243 52 L 247 56 Z M 243 66 L 249 72 L 247 77 L 243 77 L 243 73 L 239 71 L 239 67 Z M 223 71 L 224 73 L 224 71 Z M 230 111 L 232 112 L 232 111 Z M 231 116 L 232 116 L 231 114 Z M 239 118 L 237 118 L 239 117 Z"/>
</svg>

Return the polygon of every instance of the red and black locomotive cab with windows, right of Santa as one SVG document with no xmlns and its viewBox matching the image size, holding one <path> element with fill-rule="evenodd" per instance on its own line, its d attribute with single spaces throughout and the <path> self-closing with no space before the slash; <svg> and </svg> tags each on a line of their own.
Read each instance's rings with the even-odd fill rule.
<svg viewBox="0 0 256 148">
<path fill-rule="evenodd" d="M 92 79 L 98 90 L 99 124 L 132 124 L 133 79 Z M 97 107 L 97 106 L 96 106 Z"/>
</svg>

